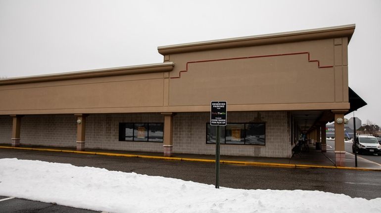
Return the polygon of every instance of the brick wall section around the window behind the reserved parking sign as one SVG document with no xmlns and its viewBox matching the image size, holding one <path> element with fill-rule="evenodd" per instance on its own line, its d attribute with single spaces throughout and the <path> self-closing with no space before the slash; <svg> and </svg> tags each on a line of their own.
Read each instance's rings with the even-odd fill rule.
<svg viewBox="0 0 381 213">
<path fill-rule="evenodd" d="M 215 145 L 206 144 L 209 113 L 177 113 L 174 116 L 174 153 L 215 154 Z M 285 111 L 229 112 L 228 123 L 266 123 L 266 146 L 221 145 L 221 155 L 291 157 L 290 129 Z"/>
</svg>

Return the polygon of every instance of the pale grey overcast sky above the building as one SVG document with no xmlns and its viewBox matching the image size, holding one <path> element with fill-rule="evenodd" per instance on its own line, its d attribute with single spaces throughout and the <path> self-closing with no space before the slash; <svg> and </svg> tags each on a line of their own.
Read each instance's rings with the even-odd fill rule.
<svg viewBox="0 0 381 213">
<path fill-rule="evenodd" d="M 349 86 L 368 103 L 355 115 L 381 126 L 381 0 L 0 0 L 0 76 L 159 63 L 161 45 L 346 24 Z"/>
</svg>

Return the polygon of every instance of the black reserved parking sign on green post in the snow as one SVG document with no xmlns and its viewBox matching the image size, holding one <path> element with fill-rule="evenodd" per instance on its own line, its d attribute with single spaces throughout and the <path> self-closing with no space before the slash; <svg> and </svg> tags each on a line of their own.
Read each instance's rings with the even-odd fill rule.
<svg viewBox="0 0 381 213">
<path fill-rule="evenodd" d="M 216 126 L 216 189 L 220 188 L 220 127 L 226 126 L 226 101 L 211 101 L 210 125 Z"/>
</svg>

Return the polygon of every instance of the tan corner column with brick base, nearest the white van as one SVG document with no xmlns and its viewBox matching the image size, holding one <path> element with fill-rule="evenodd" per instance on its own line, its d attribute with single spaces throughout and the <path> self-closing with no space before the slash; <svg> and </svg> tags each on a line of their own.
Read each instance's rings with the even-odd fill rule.
<svg viewBox="0 0 381 213">
<path fill-rule="evenodd" d="M 344 113 L 346 110 L 332 110 L 334 113 L 334 154 L 336 166 L 345 166 Z M 341 122 L 341 123 L 340 123 Z"/>
</svg>

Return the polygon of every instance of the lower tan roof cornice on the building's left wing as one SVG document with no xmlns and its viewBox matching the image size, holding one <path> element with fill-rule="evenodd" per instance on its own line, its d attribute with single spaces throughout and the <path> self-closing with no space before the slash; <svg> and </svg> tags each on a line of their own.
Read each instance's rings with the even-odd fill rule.
<svg viewBox="0 0 381 213">
<path fill-rule="evenodd" d="M 134 65 L 134 66 L 125 66 L 125 67 L 85 70 L 85 71 L 77 71 L 77 72 L 25 76 L 25 77 L 1 79 L 0 85 L 26 84 L 26 83 L 84 79 L 84 78 L 98 78 L 98 77 L 107 77 L 107 76 L 169 72 L 173 69 L 174 66 L 175 64 L 173 62 L 164 62 L 164 63 L 155 63 L 155 64 L 143 64 L 143 65 Z"/>
</svg>

